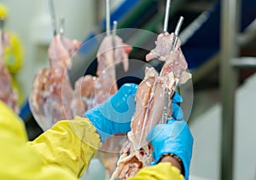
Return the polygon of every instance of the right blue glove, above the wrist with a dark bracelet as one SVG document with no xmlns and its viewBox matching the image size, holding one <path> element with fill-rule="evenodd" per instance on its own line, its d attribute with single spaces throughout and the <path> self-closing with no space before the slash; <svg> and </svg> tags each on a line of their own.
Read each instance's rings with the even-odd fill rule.
<svg viewBox="0 0 256 180">
<path fill-rule="evenodd" d="M 189 165 L 193 148 L 193 136 L 189 126 L 183 119 L 183 112 L 176 102 L 182 98 L 177 93 L 172 99 L 172 119 L 166 125 L 155 125 L 148 133 L 147 141 L 154 148 L 153 158 L 155 165 L 163 154 L 176 154 L 183 161 L 184 177 L 189 178 Z"/>
</svg>

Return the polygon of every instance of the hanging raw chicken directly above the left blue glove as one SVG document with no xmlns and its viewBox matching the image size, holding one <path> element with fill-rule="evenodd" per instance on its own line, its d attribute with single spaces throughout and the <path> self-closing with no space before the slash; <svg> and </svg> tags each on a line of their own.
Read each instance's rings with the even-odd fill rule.
<svg viewBox="0 0 256 180">
<path fill-rule="evenodd" d="M 102 40 L 97 52 L 97 77 L 86 75 L 75 83 L 73 111 L 75 115 L 83 115 L 84 112 L 97 104 L 105 102 L 117 90 L 115 66 L 123 62 L 125 71 L 128 70 L 128 54 L 131 46 L 124 44 L 123 40 L 115 36 L 115 48 L 113 48 L 113 36 L 108 35 Z"/>
</svg>

